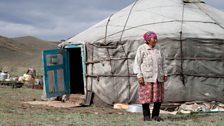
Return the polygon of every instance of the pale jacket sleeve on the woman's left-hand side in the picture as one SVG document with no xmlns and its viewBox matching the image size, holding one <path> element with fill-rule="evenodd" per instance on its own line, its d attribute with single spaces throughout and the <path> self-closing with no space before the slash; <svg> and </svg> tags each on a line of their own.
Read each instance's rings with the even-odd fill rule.
<svg viewBox="0 0 224 126">
<path fill-rule="evenodd" d="M 133 66 L 133 71 L 135 74 L 137 74 L 137 78 L 143 77 L 141 64 L 142 64 L 141 50 L 138 48 L 135 55 L 134 66 Z"/>
</svg>

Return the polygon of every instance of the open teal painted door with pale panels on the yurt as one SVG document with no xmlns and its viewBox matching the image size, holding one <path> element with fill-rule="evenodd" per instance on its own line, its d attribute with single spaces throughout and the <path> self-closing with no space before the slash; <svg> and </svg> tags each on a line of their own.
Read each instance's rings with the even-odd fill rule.
<svg viewBox="0 0 224 126">
<path fill-rule="evenodd" d="M 53 49 L 43 51 L 44 88 L 46 96 L 56 97 L 69 93 L 68 63 L 66 49 Z"/>
</svg>

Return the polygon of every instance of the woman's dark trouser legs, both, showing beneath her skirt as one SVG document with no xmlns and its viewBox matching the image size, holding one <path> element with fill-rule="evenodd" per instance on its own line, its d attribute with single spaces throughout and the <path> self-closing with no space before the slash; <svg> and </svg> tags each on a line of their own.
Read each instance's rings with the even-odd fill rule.
<svg viewBox="0 0 224 126">
<path fill-rule="evenodd" d="M 160 107 L 161 107 L 161 102 L 154 102 L 154 106 L 152 110 L 152 118 L 159 116 Z M 149 103 L 142 104 L 142 109 L 143 109 L 144 120 L 149 120 L 150 119 Z"/>
</svg>

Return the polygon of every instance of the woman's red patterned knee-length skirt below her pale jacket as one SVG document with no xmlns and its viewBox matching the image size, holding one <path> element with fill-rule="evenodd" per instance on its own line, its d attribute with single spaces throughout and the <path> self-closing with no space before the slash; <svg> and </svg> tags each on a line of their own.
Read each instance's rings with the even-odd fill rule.
<svg viewBox="0 0 224 126">
<path fill-rule="evenodd" d="M 139 103 L 163 102 L 164 100 L 164 83 L 163 82 L 146 82 L 138 88 Z"/>
</svg>

